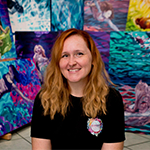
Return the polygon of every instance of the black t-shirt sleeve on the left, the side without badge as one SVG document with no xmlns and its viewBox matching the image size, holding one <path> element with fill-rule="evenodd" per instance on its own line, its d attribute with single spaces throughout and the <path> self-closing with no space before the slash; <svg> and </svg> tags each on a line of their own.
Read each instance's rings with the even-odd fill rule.
<svg viewBox="0 0 150 150">
<path fill-rule="evenodd" d="M 50 116 L 44 116 L 43 111 L 44 109 L 38 93 L 33 106 L 31 137 L 50 139 Z"/>
</svg>

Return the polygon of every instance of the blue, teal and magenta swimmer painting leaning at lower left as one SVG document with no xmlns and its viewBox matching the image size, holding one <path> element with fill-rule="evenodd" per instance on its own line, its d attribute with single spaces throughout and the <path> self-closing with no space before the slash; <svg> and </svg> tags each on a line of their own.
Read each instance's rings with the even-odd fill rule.
<svg viewBox="0 0 150 150">
<path fill-rule="evenodd" d="M 0 136 L 31 122 L 41 88 L 32 59 L 0 62 Z"/>
</svg>

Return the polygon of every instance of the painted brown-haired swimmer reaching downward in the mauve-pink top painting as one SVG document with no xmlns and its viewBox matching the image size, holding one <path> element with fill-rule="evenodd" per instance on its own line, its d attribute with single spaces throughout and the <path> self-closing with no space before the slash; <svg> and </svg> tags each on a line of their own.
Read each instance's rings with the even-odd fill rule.
<svg viewBox="0 0 150 150">
<path fill-rule="evenodd" d="M 114 17 L 113 6 L 106 1 L 93 0 L 87 2 L 87 5 L 90 7 L 93 17 L 99 22 L 106 22 L 113 30 L 119 31 L 117 26 L 112 22 Z"/>
</svg>

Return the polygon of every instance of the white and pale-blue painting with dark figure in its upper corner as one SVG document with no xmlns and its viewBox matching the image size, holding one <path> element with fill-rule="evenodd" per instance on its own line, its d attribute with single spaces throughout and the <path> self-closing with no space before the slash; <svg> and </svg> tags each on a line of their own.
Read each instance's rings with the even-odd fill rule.
<svg viewBox="0 0 150 150">
<path fill-rule="evenodd" d="M 7 0 L 13 33 L 50 31 L 50 0 Z"/>
</svg>

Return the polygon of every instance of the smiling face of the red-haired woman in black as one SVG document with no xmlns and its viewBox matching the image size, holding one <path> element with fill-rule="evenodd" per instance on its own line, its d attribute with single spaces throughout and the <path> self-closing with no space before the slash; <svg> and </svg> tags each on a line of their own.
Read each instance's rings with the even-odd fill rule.
<svg viewBox="0 0 150 150">
<path fill-rule="evenodd" d="M 63 45 L 59 67 L 69 84 L 87 82 L 91 71 L 92 55 L 79 35 L 68 37 Z"/>
</svg>

